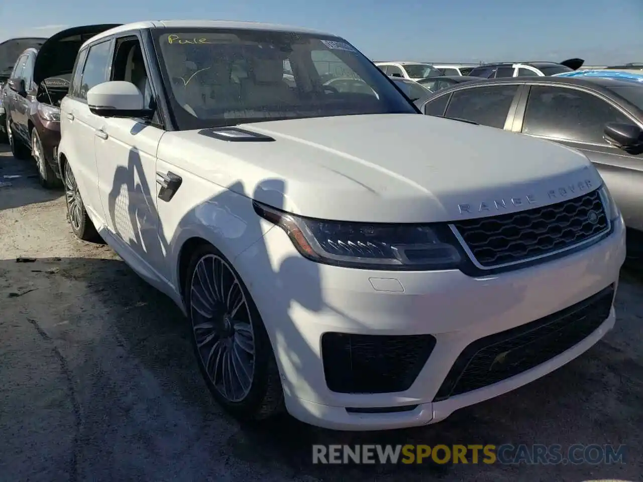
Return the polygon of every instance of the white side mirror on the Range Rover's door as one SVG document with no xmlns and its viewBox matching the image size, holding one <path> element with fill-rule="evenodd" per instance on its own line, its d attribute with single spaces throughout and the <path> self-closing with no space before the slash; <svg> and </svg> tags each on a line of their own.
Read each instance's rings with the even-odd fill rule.
<svg viewBox="0 0 643 482">
<path fill-rule="evenodd" d="M 123 80 L 103 82 L 87 92 L 89 111 L 101 117 L 147 118 L 143 94 L 136 85 Z"/>
</svg>

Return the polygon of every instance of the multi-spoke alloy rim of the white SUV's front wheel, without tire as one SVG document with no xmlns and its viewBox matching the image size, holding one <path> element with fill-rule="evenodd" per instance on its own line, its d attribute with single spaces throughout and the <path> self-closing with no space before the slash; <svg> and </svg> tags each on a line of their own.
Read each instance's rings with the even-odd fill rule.
<svg viewBox="0 0 643 482">
<path fill-rule="evenodd" d="M 206 254 L 190 283 L 190 315 L 197 351 L 221 397 L 248 396 L 255 371 L 255 336 L 246 296 L 220 256 Z"/>
</svg>

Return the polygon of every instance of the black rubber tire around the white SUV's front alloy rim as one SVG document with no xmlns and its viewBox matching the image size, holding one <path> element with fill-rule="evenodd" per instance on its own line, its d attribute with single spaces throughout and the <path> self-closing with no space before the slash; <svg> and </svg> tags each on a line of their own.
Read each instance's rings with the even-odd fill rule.
<svg viewBox="0 0 643 482">
<path fill-rule="evenodd" d="M 206 367 L 206 361 L 204 361 L 203 357 L 203 352 L 208 352 L 210 353 L 210 359 L 213 359 L 212 352 L 214 352 L 214 344 L 217 343 L 217 341 L 222 341 L 222 336 L 217 335 L 212 343 L 212 347 L 210 347 L 209 344 L 203 344 L 201 348 L 199 348 L 199 342 L 197 341 L 197 328 L 195 326 L 200 326 L 203 325 L 203 320 L 204 319 L 209 319 L 212 325 L 214 325 L 217 322 L 217 318 L 221 314 L 221 311 L 217 310 L 214 308 L 212 309 L 213 316 L 210 318 L 203 317 L 202 314 L 197 312 L 195 309 L 195 305 L 193 305 L 193 280 L 197 280 L 199 274 L 203 274 L 203 271 L 199 271 L 199 274 L 195 274 L 197 270 L 197 266 L 199 267 L 200 270 L 203 269 L 203 264 L 199 264 L 202 260 L 205 262 L 206 260 L 213 260 L 213 271 L 212 274 L 213 276 L 211 278 L 208 278 L 208 284 L 212 286 L 211 283 L 215 283 L 215 278 L 220 278 L 222 281 L 221 284 L 226 283 L 226 276 L 221 275 L 221 276 L 214 276 L 215 271 L 215 260 L 216 262 L 221 262 L 221 267 L 222 270 L 226 268 L 229 271 L 225 271 L 230 273 L 234 279 L 238 282 L 238 287 L 240 288 L 240 292 L 244 296 L 244 302 L 246 303 L 246 306 L 248 310 L 244 308 L 244 312 L 248 313 L 248 320 L 249 323 L 246 323 L 246 319 L 243 315 L 237 314 L 233 315 L 235 319 L 233 319 L 232 316 L 228 318 L 228 330 L 231 332 L 231 336 L 229 339 L 232 339 L 230 342 L 230 345 L 233 345 L 235 343 L 235 340 L 237 340 L 237 335 L 239 335 L 239 332 L 242 330 L 237 330 L 236 326 L 238 325 L 251 325 L 251 336 L 252 336 L 252 343 L 253 343 L 253 369 L 252 369 L 252 375 L 248 376 L 248 378 L 251 380 L 248 384 L 248 391 L 245 393 L 242 398 L 240 399 L 235 399 L 231 400 L 231 397 L 226 397 L 222 393 L 222 388 L 217 388 L 217 384 L 215 384 L 215 379 L 217 379 L 217 371 L 214 371 L 214 375 L 208 371 L 208 367 Z M 224 272 L 224 271 L 221 271 Z M 231 278 L 230 278 L 231 279 Z M 234 283 L 232 283 L 233 285 Z M 219 404 L 231 415 L 235 416 L 237 419 L 243 421 L 243 422 L 253 422 L 253 421 L 258 421 L 258 420 L 265 420 L 266 418 L 269 418 L 273 415 L 277 415 L 278 413 L 281 413 L 284 408 L 284 390 L 282 388 L 282 383 L 281 379 L 279 376 L 279 371 L 276 365 L 275 361 L 275 355 L 273 353 L 273 348 L 270 343 L 270 339 L 267 335 L 266 332 L 266 327 L 264 326 L 264 323 L 261 319 L 261 316 L 257 310 L 257 307 L 255 306 L 254 301 L 252 300 L 248 289 L 246 288 L 246 285 L 244 285 L 244 282 L 241 280 L 239 274 L 237 271 L 234 269 L 234 267 L 226 260 L 226 258 L 219 252 L 218 249 L 213 247 L 210 244 L 203 244 L 199 246 L 195 252 L 192 254 L 192 258 L 190 259 L 190 263 L 188 265 L 187 269 L 187 276 L 185 280 L 185 287 L 184 287 L 184 299 L 185 299 L 185 305 L 186 305 L 186 310 L 188 312 L 188 319 L 190 321 L 190 327 L 192 328 L 192 346 L 194 347 L 194 353 L 195 356 L 197 357 L 197 362 L 199 363 L 199 369 L 201 370 L 201 374 L 203 375 L 203 379 L 206 382 L 206 385 L 208 386 L 208 389 L 210 389 L 210 392 L 212 393 L 213 397 Z M 198 293 L 195 296 L 195 299 L 198 297 Z M 224 297 L 221 296 L 222 299 L 227 298 L 230 300 L 230 296 Z M 238 298 L 237 298 L 238 299 Z M 197 300 L 196 303 L 199 303 Z M 232 301 L 232 303 L 235 303 L 235 301 Z M 220 303 L 220 305 L 224 305 L 225 303 Z M 242 310 L 238 308 L 238 312 L 240 313 Z M 228 310 L 226 310 L 228 311 Z M 195 316 L 193 316 L 195 315 Z M 221 316 L 222 317 L 222 316 Z M 237 319 L 242 320 L 237 323 Z M 198 323 L 195 325 L 195 323 Z M 210 333 L 213 333 L 215 330 L 210 330 Z M 246 332 L 247 333 L 247 332 Z M 209 335 L 199 335 L 199 338 L 201 341 L 203 339 L 208 339 L 210 338 Z M 248 338 L 246 338 L 246 341 Z M 203 351 L 202 351 L 203 350 Z M 228 350 L 228 348 L 224 348 L 222 350 Z M 222 359 L 225 358 L 226 355 L 222 355 L 222 350 L 219 350 L 217 352 L 217 359 L 214 360 L 214 363 L 217 364 L 219 362 L 219 359 L 221 359 L 221 364 L 223 365 L 224 362 Z M 230 348 L 230 353 L 233 352 L 233 348 Z M 239 350 L 240 353 L 243 355 L 249 356 L 247 352 L 243 352 Z M 237 354 L 236 359 L 240 360 L 240 357 Z M 235 354 L 231 354 L 229 359 L 228 359 L 228 370 L 230 369 L 230 364 L 234 364 L 233 357 Z M 212 367 L 212 370 L 215 370 Z M 222 371 L 224 371 L 224 368 L 221 368 Z M 237 370 L 235 370 L 237 371 Z M 247 374 L 247 372 L 246 372 Z M 225 382 L 222 381 L 222 384 L 225 384 Z"/>
</svg>

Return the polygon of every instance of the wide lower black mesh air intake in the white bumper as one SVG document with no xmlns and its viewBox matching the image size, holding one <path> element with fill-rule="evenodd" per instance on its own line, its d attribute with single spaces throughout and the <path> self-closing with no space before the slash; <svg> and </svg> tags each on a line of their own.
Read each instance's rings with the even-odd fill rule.
<svg viewBox="0 0 643 482">
<path fill-rule="evenodd" d="M 550 316 L 471 343 L 457 358 L 434 402 L 530 370 L 583 341 L 610 315 L 613 286 Z"/>
</svg>

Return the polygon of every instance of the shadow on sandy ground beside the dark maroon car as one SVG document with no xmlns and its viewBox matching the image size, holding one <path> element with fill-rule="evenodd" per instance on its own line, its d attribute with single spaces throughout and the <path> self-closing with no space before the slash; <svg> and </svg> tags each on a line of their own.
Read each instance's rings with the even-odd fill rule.
<svg viewBox="0 0 643 482">
<path fill-rule="evenodd" d="M 62 188 L 41 188 L 35 161 L 15 159 L 9 146 L 0 144 L 0 211 L 53 201 L 62 195 Z"/>
</svg>

